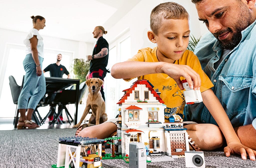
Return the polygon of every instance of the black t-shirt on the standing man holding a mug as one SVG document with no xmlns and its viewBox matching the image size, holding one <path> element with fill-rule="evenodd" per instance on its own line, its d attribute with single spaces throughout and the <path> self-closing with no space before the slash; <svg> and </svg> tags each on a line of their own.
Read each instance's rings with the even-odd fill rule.
<svg viewBox="0 0 256 168">
<path fill-rule="evenodd" d="M 105 40 L 105 38 L 100 37 L 93 49 L 92 55 L 98 54 L 102 48 L 108 48 L 109 50 L 109 43 Z M 90 72 L 97 71 L 99 69 L 102 69 L 103 71 L 107 71 L 106 66 L 108 65 L 108 59 L 109 59 L 109 54 L 107 54 L 105 57 L 91 60 Z"/>
</svg>

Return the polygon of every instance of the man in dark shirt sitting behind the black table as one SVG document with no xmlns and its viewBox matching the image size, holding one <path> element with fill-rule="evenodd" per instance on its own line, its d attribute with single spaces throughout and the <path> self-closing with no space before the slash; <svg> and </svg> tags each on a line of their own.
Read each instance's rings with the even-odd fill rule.
<svg viewBox="0 0 256 168">
<path fill-rule="evenodd" d="M 60 61 L 62 60 L 62 55 L 58 54 L 57 55 L 57 62 L 56 63 L 52 63 L 50 65 L 48 65 L 45 69 L 44 69 L 44 73 L 50 71 L 50 76 L 51 77 L 61 77 L 63 76 L 63 74 L 65 73 L 66 75 L 68 75 L 68 79 L 70 79 L 70 74 L 68 72 L 68 70 L 66 69 L 65 66 L 60 64 Z M 48 95 L 50 96 L 48 99 L 48 102 L 52 102 L 52 100 L 54 100 L 56 94 L 51 94 Z M 58 107 L 60 108 L 60 107 Z M 55 107 L 50 107 L 50 110 L 52 110 L 52 113 L 49 115 L 49 121 L 53 120 L 53 112 L 55 111 Z M 63 117 L 62 114 L 60 115 L 60 120 L 63 121 Z"/>
</svg>

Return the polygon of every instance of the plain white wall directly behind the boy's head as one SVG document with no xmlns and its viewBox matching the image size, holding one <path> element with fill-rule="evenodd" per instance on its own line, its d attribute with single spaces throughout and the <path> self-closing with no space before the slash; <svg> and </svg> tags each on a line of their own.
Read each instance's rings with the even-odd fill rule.
<svg viewBox="0 0 256 168">
<path fill-rule="evenodd" d="M 150 30 L 150 13 L 155 6 L 164 2 L 169 1 L 142 0 L 113 27 L 108 28 L 108 34 L 104 35 L 104 38 L 111 44 L 124 30 L 130 29 L 131 56 L 135 55 L 141 48 L 155 47 L 156 44 L 150 42 L 147 38 L 147 31 Z M 173 0 L 173 2 L 184 6 L 188 11 L 191 35 L 200 37 L 208 32 L 205 24 L 198 20 L 195 5 L 190 0 Z"/>
</svg>

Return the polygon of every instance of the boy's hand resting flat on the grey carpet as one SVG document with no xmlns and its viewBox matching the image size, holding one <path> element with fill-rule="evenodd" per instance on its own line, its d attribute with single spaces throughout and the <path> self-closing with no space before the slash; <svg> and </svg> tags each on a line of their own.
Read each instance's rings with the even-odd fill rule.
<svg viewBox="0 0 256 168">
<path fill-rule="evenodd" d="M 249 154 L 251 160 L 255 160 L 256 156 L 255 150 L 252 150 L 251 148 L 248 148 L 242 144 L 228 145 L 227 147 L 224 148 L 224 153 L 226 157 L 229 157 L 230 154 L 241 154 L 243 160 L 246 160 L 247 153 Z"/>
</svg>

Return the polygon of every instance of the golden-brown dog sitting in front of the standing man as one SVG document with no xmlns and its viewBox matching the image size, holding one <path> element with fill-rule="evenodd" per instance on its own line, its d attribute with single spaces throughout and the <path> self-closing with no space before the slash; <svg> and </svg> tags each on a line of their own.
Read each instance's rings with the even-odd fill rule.
<svg viewBox="0 0 256 168">
<path fill-rule="evenodd" d="M 89 88 L 86 108 L 84 109 L 81 120 L 73 128 L 78 128 L 81 125 L 90 109 L 92 109 L 92 115 L 89 119 L 90 124 L 98 125 L 108 120 L 108 116 L 105 113 L 105 102 L 100 93 L 100 87 L 103 85 L 103 81 L 99 78 L 90 78 L 85 83 Z"/>
</svg>

